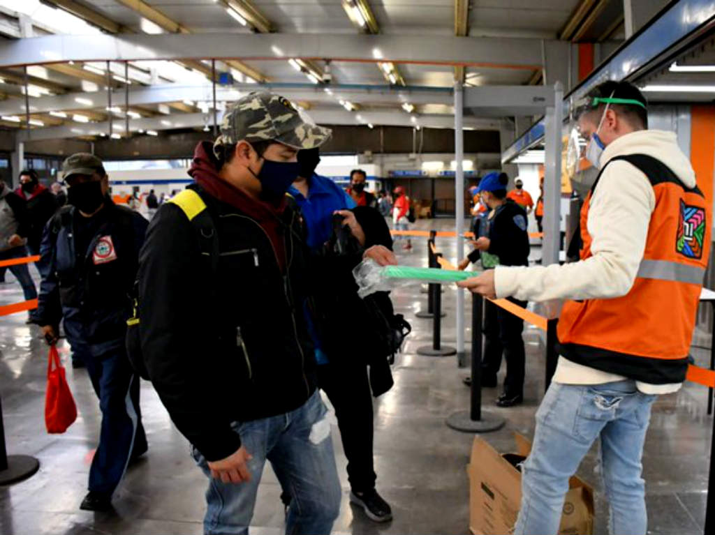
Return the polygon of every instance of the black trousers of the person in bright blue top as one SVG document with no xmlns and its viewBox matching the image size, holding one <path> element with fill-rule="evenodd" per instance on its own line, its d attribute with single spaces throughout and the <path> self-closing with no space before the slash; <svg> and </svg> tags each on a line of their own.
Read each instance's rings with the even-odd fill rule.
<svg viewBox="0 0 715 535">
<path fill-rule="evenodd" d="M 373 464 L 373 393 L 368 367 L 330 363 L 321 364 L 317 370 L 318 386 L 335 407 L 352 491 L 370 491 L 375 488 L 377 476 Z"/>
</svg>

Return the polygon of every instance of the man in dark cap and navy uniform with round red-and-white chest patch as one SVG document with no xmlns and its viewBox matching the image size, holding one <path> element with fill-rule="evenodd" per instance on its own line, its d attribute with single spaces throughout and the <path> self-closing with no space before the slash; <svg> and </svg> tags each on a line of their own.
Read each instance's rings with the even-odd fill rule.
<svg viewBox="0 0 715 535">
<path fill-rule="evenodd" d="M 73 154 L 62 172 L 69 205 L 44 229 L 40 254 L 49 269 L 40 286 L 38 323 L 54 344 L 64 319 L 67 340 L 82 355 L 99 397 L 102 431 L 80 509 L 103 511 L 127 465 L 147 451 L 139 376 L 124 338 L 148 223 L 109 199 L 109 178 L 97 156 Z"/>
</svg>

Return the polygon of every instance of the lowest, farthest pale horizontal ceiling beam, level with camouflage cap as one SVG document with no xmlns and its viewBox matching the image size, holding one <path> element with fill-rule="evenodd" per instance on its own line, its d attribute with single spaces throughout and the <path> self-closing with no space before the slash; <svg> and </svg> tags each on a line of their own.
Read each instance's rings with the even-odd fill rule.
<svg viewBox="0 0 715 535">
<path fill-rule="evenodd" d="M 358 115 L 363 121 L 358 119 Z M 360 111 L 360 114 L 355 114 L 343 109 L 313 109 L 310 111 L 310 116 L 318 124 L 346 124 L 355 126 L 364 126 L 367 123 L 375 126 L 415 126 L 410 121 L 410 115 L 403 111 Z M 143 130 L 171 130 L 171 129 L 187 129 L 201 128 L 209 124 L 207 115 L 205 114 L 183 114 L 176 116 L 152 117 L 144 119 L 132 119 L 129 121 L 129 129 L 137 131 Z M 454 128 L 454 117 L 452 115 L 424 115 L 420 116 L 418 124 L 425 128 Z M 478 130 L 498 130 L 501 121 L 478 119 L 473 117 L 465 117 L 464 126 Z M 27 131 L 18 131 L 18 141 L 39 141 L 43 139 L 66 139 L 80 136 L 99 136 L 100 133 L 106 132 L 108 129 L 106 122 L 102 123 L 73 123 L 64 126 L 53 126 L 50 128 L 32 129 L 30 136 Z M 117 121 L 114 124 L 114 129 L 117 133 L 124 134 L 124 121 Z"/>
</svg>

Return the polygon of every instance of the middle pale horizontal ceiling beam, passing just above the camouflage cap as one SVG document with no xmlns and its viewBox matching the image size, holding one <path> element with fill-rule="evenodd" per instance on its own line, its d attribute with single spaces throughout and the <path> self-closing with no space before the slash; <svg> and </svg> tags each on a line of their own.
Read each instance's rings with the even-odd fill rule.
<svg viewBox="0 0 715 535">
<path fill-rule="evenodd" d="M 218 101 L 232 101 L 238 98 L 239 94 L 248 91 L 255 91 L 258 87 L 269 89 L 285 96 L 292 101 L 307 101 L 319 104 L 337 104 L 338 99 L 344 99 L 355 104 L 394 104 L 399 106 L 403 102 L 410 102 L 415 105 L 423 104 L 445 104 L 451 105 L 453 102 L 452 91 L 448 90 L 425 90 L 422 88 L 400 88 L 376 86 L 375 88 L 355 88 L 346 86 L 331 86 L 332 94 L 327 94 L 316 86 L 292 87 L 284 84 L 270 86 L 256 86 L 255 84 L 244 84 L 240 86 L 217 86 L 216 97 Z M 106 104 L 107 95 L 104 92 L 82 92 L 57 96 L 41 96 L 32 99 L 32 111 L 36 113 L 48 113 L 49 111 L 66 111 L 67 109 L 77 109 L 76 99 L 87 99 L 92 101 L 92 105 L 87 106 L 88 110 L 103 107 Z M 137 86 L 129 90 L 129 106 L 150 106 L 154 104 L 178 103 L 184 100 L 191 101 L 211 101 L 211 84 L 187 86 L 185 84 L 161 84 L 155 86 Z M 114 89 L 112 91 L 112 101 L 124 103 L 124 89 Z M 194 111 L 193 109 L 191 111 Z M 0 115 L 16 115 L 24 112 L 24 101 L 0 102 Z"/>
</svg>

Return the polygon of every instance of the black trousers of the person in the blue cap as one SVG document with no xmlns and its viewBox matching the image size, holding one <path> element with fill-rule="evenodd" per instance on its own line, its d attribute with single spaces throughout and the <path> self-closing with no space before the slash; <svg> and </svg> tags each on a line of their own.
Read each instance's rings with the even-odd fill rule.
<svg viewBox="0 0 715 535">
<path fill-rule="evenodd" d="M 508 298 L 518 306 L 526 306 L 526 301 Z M 521 333 L 524 321 L 490 301 L 484 301 L 484 357 L 482 376 L 489 380 L 496 377 L 501 367 L 501 356 L 506 359 L 504 394 L 508 397 L 523 394 L 524 366 L 526 355 Z"/>
</svg>

